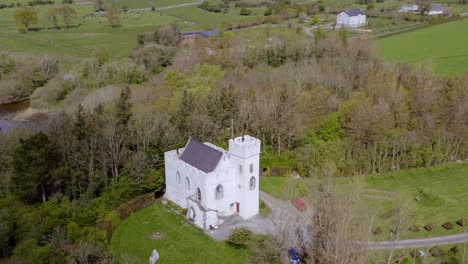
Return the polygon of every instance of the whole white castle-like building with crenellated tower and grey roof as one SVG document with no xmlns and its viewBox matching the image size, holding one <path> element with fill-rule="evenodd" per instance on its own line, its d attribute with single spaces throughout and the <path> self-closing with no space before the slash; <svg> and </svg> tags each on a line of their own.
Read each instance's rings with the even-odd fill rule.
<svg viewBox="0 0 468 264">
<path fill-rule="evenodd" d="M 164 154 L 165 198 L 187 208 L 187 218 L 203 229 L 229 216 L 259 212 L 260 140 L 229 140 L 229 150 L 192 138 L 185 148 Z"/>
</svg>

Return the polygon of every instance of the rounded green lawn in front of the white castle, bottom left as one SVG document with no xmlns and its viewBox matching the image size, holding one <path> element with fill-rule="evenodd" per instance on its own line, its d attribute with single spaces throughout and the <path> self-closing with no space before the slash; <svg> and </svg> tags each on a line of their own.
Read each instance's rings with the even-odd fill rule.
<svg viewBox="0 0 468 264">
<path fill-rule="evenodd" d="M 152 237 L 157 232 L 160 237 Z M 226 242 L 217 242 L 184 216 L 162 204 L 153 204 L 136 212 L 120 224 L 111 241 L 111 251 L 118 257 L 148 263 L 153 249 L 164 263 L 245 263 L 248 252 Z"/>
</svg>

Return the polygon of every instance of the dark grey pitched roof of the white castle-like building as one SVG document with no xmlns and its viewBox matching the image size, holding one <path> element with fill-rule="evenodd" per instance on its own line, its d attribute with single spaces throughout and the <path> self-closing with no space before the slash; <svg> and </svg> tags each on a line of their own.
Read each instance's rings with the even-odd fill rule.
<svg viewBox="0 0 468 264">
<path fill-rule="evenodd" d="M 190 138 L 180 159 L 205 173 L 210 173 L 216 169 L 222 156 L 221 151 Z"/>
</svg>

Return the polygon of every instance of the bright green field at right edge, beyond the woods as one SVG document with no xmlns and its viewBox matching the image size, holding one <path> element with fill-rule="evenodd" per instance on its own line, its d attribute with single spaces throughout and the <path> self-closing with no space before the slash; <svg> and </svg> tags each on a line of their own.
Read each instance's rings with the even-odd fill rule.
<svg viewBox="0 0 468 264">
<path fill-rule="evenodd" d="M 390 61 L 432 63 L 439 74 L 463 74 L 468 71 L 467 28 L 468 19 L 462 19 L 382 38 L 378 47 Z"/>
</svg>

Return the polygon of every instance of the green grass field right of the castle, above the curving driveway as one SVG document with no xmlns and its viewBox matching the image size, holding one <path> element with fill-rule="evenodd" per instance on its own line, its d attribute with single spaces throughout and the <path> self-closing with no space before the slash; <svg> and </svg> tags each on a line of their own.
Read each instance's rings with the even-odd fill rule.
<svg viewBox="0 0 468 264">
<path fill-rule="evenodd" d="M 336 180 L 339 189 L 349 188 L 350 180 Z M 366 176 L 363 179 L 363 200 L 370 208 L 377 209 L 378 217 L 374 226 L 382 228 L 382 234 L 375 239 L 387 239 L 396 215 L 392 210 L 405 204 L 408 215 L 406 225 L 417 225 L 419 232 L 405 230 L 403 238 L 433 237 L 467 232 L 455 224 L 468 218 L 468 164 L 449 164 L 429 168 L 401 170 L 391 173 Z M 417 201 L 419 199 L 419 201 Z M 384 215 L 389 217 L 384 217 Z M 442 228 L 445 222 L 454 228 Z M 435 226 L 425 231 L 425 225 Z"/>
</svg>

